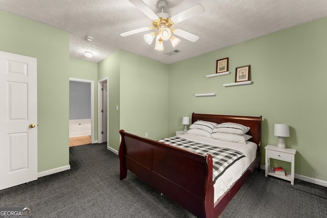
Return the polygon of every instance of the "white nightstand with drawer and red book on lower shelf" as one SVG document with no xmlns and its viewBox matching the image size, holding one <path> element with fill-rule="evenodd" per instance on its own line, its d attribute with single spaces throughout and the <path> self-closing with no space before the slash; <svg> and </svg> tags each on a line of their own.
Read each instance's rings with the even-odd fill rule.
<svg viewBox="0 0 327 218">
<path fill-rule="evenodd" d="M 265 147 L 266 149 L 266 171 L 265 171 L 265 176 L 267 177 L 268 175 L 274 176 L 277 178 L 285 179 L 287 181 L 290 181 L 292 185 L 294 185 L 294 159 L 295 159 L 295 149 L 281 149 L 278 148 L 277 146 L 269 146 L 267 145 Z M 276 175 L 273 172 L 273 169 L 270 168 L 270 158 L 271 159 L 276 159 L 276 160 L 282 160 L 286 162 L 291 163 L 291 172 L 289 175 L 285 176 L 279 176 Z"/>
</svg>

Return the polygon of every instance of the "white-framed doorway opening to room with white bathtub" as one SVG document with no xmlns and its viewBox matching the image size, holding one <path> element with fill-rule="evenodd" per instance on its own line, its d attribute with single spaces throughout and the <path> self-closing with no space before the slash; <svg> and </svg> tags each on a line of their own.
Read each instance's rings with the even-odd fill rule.
<svg viewBox="0 0 327 218">
<path fill-rule="evenodd" d="M 71 84 L 71 82 L 76 83 L 77 87 L 79 83 L 81 87 L 86 87 L 85 95 L 88 95 L 88 98 L 83 101 L 86 101 L 84 102 L 84 106 L 86 105 L 88 110 L 79 111 L 76 116 L 71 116 L 72 105 L 71 100 L 69 100 L 69 147 L 96 143 L 94 140 L 94 81 L 69 78 L 69 84 Z M 69 88 L 69 92 L 71 92 L 71 88 Z M 71 94 L 72 93 L 69 93 L 69 96 L 71 96 Z M 78 107 L 78 105 L 75 105 L 75 107 Z M 85 113 L 87 113 L 88 116 L 86 116 Z"/>
</svg>

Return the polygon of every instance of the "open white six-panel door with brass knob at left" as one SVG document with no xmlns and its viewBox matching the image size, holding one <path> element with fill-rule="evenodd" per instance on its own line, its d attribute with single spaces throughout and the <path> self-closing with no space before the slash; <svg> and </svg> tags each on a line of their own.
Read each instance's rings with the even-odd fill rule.
<svg viewBox="0 0 327 218">
<path fill-rule="evenodd" d="M 0 190 L 37 179 L 36 67 L 0 52 Z"/>
</svg>

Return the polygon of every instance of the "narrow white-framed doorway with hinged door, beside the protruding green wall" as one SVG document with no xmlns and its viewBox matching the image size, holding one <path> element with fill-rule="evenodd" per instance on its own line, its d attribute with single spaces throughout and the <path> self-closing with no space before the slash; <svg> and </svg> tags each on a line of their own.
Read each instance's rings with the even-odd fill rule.
<svg viewBox="0 0 327 218">
<path fill-rule="evenodd" d="M 98 81 L 98 143 L 108 140 L 108 78 Z"/>
</svg>

